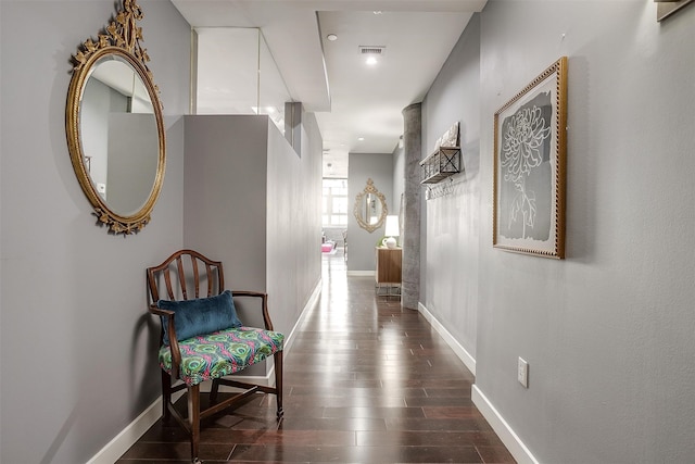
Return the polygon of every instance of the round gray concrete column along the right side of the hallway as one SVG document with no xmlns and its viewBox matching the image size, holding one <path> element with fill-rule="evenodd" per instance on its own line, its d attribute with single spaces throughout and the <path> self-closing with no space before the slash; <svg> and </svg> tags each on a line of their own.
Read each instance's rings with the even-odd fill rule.
<svg viewBox="0 0 695 464">
<path fill-rule="evenodd" d="M 422 156 L 421 103 L 403 110 L 405 158 L 405 221 L 403 230 L 403 283 L 401 304 L 417 310 L 420 301 L 420 158 Z"/>
</svg>

